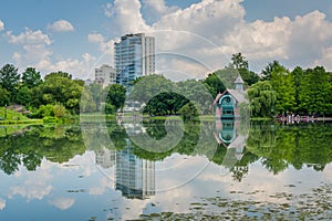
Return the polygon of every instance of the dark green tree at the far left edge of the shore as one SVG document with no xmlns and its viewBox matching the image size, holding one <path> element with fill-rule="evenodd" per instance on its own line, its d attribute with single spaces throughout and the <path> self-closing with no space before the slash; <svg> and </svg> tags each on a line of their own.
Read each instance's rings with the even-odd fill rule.
<svg viewBox="0 0 332 221">
<path fill-rule="evenodd" d="M 10 93 L 11 101 L 15 97 L 19 81 L 20 74 L 14 65 L 6 64 L 0 70 L 0 86 Z"/>
</svg>

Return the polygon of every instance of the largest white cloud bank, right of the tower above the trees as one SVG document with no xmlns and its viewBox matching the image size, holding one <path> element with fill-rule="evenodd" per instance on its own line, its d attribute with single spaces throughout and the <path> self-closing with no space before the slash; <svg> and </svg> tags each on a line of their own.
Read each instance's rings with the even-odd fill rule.
<svg viewBox="0 0 332 221">
<path fill-rule="evenodd" d="M 304 67 L 315 61 L 332 62 L 328 50 L 332 46 L 332 23 L 324 13 L 313 11 L 294 20 L 283 17 L 271 22 L 246 22 L 246 10 L 240 3 L 241 0 L 206 0 L 165 14 L 149 30 L 153 34 L 158 30 L 188 31 L 189 38 L 169 31 L 167 38 L 156 38 L 156 46 L 198 57 L 211 69 L 224 67 L 237 52 L 242 52 L 255 71 L 272 60 Z M 210 44 L 203 44 L 199 39 Z"/>
</svg>

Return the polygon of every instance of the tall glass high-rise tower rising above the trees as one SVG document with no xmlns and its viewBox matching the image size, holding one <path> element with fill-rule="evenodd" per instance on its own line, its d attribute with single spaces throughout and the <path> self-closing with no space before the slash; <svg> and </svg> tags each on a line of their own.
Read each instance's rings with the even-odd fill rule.
<svg viewBox="0 0 332 221">
<path fill-rule="evenodd" d="M 126 34 L 114 48 L 117 84 L 131 87 L 135 78 L 155 73 L 155 38 Z"/>
</svg>

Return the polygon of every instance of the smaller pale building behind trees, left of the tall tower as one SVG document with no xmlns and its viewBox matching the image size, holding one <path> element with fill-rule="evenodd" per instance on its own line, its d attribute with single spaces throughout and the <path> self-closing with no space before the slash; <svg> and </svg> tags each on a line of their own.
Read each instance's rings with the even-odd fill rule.
<svg viewBox="0 0 332 221">
<path fill-rule="evenodd" d="M 95 69 L 94 72 L 95 83 L 103 85 L 103 87 L 116 83 L 116 71 L 114 67 L 103 64 L 101 67 Z"/>
</svg>

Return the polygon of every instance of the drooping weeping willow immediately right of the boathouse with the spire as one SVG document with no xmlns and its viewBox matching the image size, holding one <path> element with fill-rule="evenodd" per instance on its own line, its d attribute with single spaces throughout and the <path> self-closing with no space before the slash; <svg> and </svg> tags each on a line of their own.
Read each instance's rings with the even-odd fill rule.
<svg viewBox="0 0 332 221">
<path fill-rule="evenodd" d="M 255 117 L 269 117 L 277 103 L 277 93 L 269 82 L 258 82 L 248 90 L 250 112 Z"/>
</svg>

